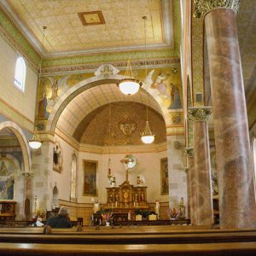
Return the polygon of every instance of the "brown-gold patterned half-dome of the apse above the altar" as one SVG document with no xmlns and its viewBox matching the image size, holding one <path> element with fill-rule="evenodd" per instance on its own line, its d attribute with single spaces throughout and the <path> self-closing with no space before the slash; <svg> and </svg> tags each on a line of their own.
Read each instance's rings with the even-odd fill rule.
<svg viewBox="0 0 256 256">
<path fill-rule="evenodd" d="M 154 143 L 166 142 L 166 125 L 160 113 L 148 108 L 148 120 L 155 135 Z M 145 128 L 145 121 L 145 105 L 137 102 L 115 102 L 87 115 L 79 123 L 73 137 L 79 143 L 98 146 L 139 145 L 143 144 L 140 135 Z"/>
</svg>

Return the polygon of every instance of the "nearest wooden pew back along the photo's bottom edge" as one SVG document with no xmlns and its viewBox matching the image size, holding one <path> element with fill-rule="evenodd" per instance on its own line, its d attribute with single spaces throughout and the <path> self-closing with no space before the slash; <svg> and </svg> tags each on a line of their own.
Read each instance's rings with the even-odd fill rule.
<svg viewBox="0 0 256 256">
<path fill-rule="evenodd" d="M 73 245 L 0 243 L 0 255 L 56 256 L 56 255 L 214 255 L 254 256 L 256 242 L 232 242 L 211 244 L 149 244 L 149 245 Z"/>
</svg>

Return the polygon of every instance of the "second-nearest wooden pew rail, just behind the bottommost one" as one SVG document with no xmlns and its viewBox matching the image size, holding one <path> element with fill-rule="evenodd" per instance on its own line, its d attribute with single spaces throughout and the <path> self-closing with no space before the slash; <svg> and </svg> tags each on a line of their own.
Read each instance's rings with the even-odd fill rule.
<svg viewBox="0 0 256 256">
<path fill-rule="evenodd" d="M 122 229 L 93 228 L 55 229 L 49 235 L 43 228 L 0 229 L 2 242 L 26 242 L 44 244 L 175 244 L 256 241 L 256 230 L 210 230 L 210 229 L 160 229 L 153 227 L 130 227 Z"/>
</svg>

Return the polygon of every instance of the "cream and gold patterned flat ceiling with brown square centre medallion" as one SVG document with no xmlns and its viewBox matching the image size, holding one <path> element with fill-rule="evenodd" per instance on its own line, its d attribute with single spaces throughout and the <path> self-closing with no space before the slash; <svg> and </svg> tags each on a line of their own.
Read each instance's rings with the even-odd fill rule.
<svg viewBox="0 0 256 256">
<path fill-rule="evenodd" d="M 1 6 L 44 55 L 173 48 L 170 0 L 2 0 Z"/>
</svg>

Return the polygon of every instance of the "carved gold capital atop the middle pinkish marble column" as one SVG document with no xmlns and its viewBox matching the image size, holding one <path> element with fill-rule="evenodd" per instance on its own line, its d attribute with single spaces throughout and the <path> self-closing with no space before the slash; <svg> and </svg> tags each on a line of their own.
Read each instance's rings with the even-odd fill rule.
<svg viewBox="0 0 256 256">
<path fill-rule="evenodd" d="M 212 113 L 211 107 L 189 108 L 188 119 L 192 122 L 206 122 Z"/>
</svg>

